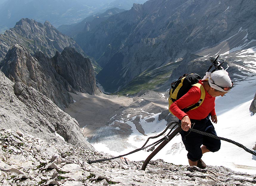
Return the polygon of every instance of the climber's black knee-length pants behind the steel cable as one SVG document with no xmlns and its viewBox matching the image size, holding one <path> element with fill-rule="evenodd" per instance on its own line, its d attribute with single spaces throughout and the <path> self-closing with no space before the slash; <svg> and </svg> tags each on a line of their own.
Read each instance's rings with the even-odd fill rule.
<svg viewBox="0 0 256 186">
<path fill-rule="evenodd" d="M 191 128 L 207 132 L 212 135 L 217 135 L 212 122 L 210 121 L 210 115 L 202 120 L 191 119 Z M 221 147 L 221 140 L 217 140 L 210 136 L 205 136 L 192 131 L 179 132 L 182 137 L 183 144 L 188 151 L 187 157 L 191 161 L 198 161 L 202 158 L 201 146 L 204 145 L 211 152 L 216 152 Z"/>
</svg>

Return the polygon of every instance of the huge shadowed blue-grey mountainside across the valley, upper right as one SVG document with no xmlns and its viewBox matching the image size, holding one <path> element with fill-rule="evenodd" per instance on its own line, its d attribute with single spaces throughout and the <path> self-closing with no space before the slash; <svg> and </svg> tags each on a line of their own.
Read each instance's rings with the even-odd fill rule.
<svg viewBox="0 0 256 186">
<path fill-rule="evenodd" d="M 221 41 L 219 54 L 238 46 L 255 46 L 255 6 L 254 1 L 242 0 L 150 0 L 111 16 L 77 37 L 77 42 L 106 66 L 97 79 L 107 92 L 114 92 L 144 71 L 179 61 L 189 53 L 201 55 L 200 49 Z M 218 53 L 213 51 L 204 55 Z"/>
</svg>

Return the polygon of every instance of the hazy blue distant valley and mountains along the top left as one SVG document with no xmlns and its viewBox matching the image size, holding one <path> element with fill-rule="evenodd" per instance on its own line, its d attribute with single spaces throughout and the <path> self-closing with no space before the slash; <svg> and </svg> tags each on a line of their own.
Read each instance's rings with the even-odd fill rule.
<svg viewBox="0 0 256 186">
<path fill-rule="evenodd" d="M 5 2 L 5 3 L 4 3 Z M 133 3 L 146 0 L 0 0 L 0 32 L 15 26 L 22 18 L 53 26 L 72 24 L 110 8 L 129 10 Z"/>
</svg>

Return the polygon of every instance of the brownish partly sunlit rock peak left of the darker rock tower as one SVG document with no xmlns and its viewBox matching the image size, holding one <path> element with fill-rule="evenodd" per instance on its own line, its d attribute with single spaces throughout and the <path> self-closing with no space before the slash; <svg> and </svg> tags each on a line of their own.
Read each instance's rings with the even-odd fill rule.
<svg viewBox="0 0 256 186">
<path fill-rule="evenodd" d="M 28 50 L 16 44 L 1 61 L 0 69 L 13 82 L 22 82 L 31 86 L 49 97 L 60 108 L 67 107 L 73 99 L 60 84 L 61 80 L 64 83 L 66 81 L 51 67 L 50 59 L 44 55 L 43 57 L 47 60 L 44 63 L 39 62 L 29 54 Z"/>
</svg>

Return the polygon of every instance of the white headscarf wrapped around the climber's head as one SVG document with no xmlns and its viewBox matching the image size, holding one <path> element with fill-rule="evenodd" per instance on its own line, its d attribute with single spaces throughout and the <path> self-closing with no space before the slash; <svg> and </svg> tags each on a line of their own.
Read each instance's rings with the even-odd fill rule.
<svg viewBox="0 0 256 186">
<path fill-rule="evenodd" d="M 210 86 L 216 90 L 219 90 L 221 92 L 229 92 L 223 90 L 221 87 L 231 87 L 232 86 L 232 81 L 228 75 L 227 71 L 224 70 L 217 70 L 214 71 L 213 73 L 207 72 L 206 75 L 204 76 L 203 80 L 205 80 L 207 77 L 208 78 L 208 82 L 210 84 Z M 218 87 L 218 86 L 220 87 Z"/>
</svg>

